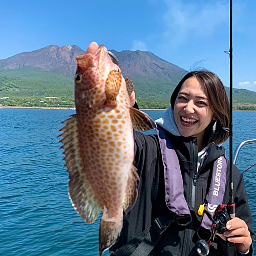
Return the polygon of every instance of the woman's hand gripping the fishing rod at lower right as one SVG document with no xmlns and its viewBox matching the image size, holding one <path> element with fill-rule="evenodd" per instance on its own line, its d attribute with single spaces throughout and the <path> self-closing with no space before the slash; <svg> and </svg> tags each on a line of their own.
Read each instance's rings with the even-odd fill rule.
<svg viewBox="0 0 256 256">
<path fill-rule="evenodd" d="M 240 252 L 247 252 L 252 243 L 247 224 L 236 217 L 227 222 L 226 228 L 227 231 L 224 232 L 224 237 L 229 242 L 236 243 L 236 247 Z"/>
</svg>

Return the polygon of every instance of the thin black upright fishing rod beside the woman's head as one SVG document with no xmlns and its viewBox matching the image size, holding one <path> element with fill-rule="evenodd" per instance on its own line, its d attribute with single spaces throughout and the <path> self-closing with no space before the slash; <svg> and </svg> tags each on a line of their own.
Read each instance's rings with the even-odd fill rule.
<svg viewBox="0 0 256 256">
<path fill-rule="evenodd" d="M 233 1 L 230 0 L 229 17 L 229 201 L 227 203 L 228 213 L 231 219 L 236 217 L 236 204 L 233 194 Z"/>
</svg>

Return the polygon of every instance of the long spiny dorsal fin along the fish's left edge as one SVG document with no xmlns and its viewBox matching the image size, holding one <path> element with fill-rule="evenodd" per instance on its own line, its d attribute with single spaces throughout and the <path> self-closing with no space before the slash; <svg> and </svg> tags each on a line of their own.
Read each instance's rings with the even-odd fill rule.
<svg viewBox="0 0 256 256">
<path fill-rule="evenodd" d="M 76 115 L 62 122 L 65 124 L 62 132 L 66 167 L 69 172 L 69 196 L 71 203 L 78 214 L 87 222 L 93 223 L 100 212 L 100 205 L 94 195 L 90 183 L 83 171 L 83 162 L 80 154 L 78 124 Z"/>
</svg>

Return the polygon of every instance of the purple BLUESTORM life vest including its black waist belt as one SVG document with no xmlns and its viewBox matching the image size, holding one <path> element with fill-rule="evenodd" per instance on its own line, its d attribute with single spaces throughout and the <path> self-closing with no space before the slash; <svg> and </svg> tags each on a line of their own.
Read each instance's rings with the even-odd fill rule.
<svg viewBox="0 0 256 256">
<path fill-rule="evenodd" d="M 148 255 L 158 243 L 165 230 L 174 221 L 177 221 L 177 224 L 179 225 L 187 226 L 192 220 L 189 207 L 184 197 L 179 159 L 174 146 L 170 141 L 167 131 L 165 131 L 161 126 L 158 126 L 156 131 L 160 142 L 164 166 L 165 202 L 170 215 L 157 217 L 151 226 L 137 234 L 135 238 L 124 244 L 117 251 L 110 251 L 110 255 Z M 217 206 L 223 202 L 226 170 L 227 159 L 225 155 L 223 155 L 214 162 L 210 187 L 205 198 L 205 208 L 208 215 L 211 216 L 211 219 Z M 206 214 L 203 214 L 201 227 L 206 230 L 210 230 L 211 224 L 212 221 L 210 218 Z"/>
</svg>

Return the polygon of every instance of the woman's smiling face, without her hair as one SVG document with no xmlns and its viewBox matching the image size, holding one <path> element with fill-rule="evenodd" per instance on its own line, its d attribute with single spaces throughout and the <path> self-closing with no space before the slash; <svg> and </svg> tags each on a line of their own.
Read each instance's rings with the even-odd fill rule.
<svg viewBox="0 0 256 256">
<path fill-rule="evenodd" d="M 174 119 L 180 134 L 198 137 L 198 143 L 202 143 L 204 131 L 213 117 L 198 80 L 195 77 L 185 80 L 174 106 Z"/>
</svg>

